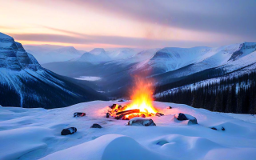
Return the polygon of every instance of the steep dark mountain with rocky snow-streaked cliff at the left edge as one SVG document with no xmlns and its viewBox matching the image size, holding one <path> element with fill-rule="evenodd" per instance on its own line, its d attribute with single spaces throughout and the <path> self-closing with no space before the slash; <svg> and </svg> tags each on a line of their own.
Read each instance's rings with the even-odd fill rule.
<svg viewBox="0 0 256 160">
<path fill-rule="evenodd" d="M 77 84 L 74 84 L 76 81 Z M 79 85 L 78 85 L 79 84 Z M 0 33 L 0 104 L 57 108 L 106 99 L 102 94 L 39 65 L 14 38 Z"/>
</svg>

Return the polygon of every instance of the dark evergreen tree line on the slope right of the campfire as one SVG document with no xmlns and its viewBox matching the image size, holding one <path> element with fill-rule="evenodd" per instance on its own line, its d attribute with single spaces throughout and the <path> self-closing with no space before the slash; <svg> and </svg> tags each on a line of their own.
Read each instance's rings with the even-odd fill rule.
<svg viewBox="0 0 256 160">
<path fill-rule="evenodd" d="M 156 100 L 218 112 L 256 114 L 256 71 L 238 77 L 222 78 L 219 82 L 209 82 L 206 85 L 186 89 L 178 87 L 168 94 L 160 94 Z"/>
</svg>

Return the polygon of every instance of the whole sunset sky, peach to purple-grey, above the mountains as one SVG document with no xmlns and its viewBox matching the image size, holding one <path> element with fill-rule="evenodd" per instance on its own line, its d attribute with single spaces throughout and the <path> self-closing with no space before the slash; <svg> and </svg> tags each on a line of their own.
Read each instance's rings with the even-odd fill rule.
<svg viewBox="0 0 256 160">
<path fill-rule="evenodd" d="M 23 45 L 162 48 L 256 42 L 256 0 L 0 0 Z"/>
</svg>

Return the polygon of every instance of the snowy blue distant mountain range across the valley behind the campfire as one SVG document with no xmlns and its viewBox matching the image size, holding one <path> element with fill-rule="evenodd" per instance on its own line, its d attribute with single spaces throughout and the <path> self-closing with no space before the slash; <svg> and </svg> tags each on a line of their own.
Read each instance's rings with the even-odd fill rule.
<svg viewBox="0 0 256 160">
<path fill-rule="evenodd" d="M 99 50 L 99 49 L 95 49 Z M 120 50 L 120 49 L 119 49 Z M 82 61 L 81 58 L 67 62 L 52 62 L 42 66 L 49 70 L 72 78 L 80 76 L 96 76 L 101 79 L 97 83 L 110 95 L 121 95 L 130 88 L 132 76 L 149 72 L 156 86 L 176 82 L 186 76 L 210 70 L 223 70 L 223 73 L 248 73 L 256 68 L 256 43 L 242 42 L 238 44 L 193 48 L 166 47 L 162 49 L 142 50 L 125 58 Z M 118 49 L 115 50 L 118 53 Z M 120 51 L 121 52 L 121 51 Z M 105 53 L 103 50 L 101 53 Z M 110 54 L 107 54 L 108 56 Z M 112 54 L 114 55 L 114 54 Z M 110 57 L 110 56 L 109 56 Z M 121 56 L 122 57 L 122 56 Z M 103 58 L 104 59 L 104 58 Z M 208 70 L 208 71 L 207 71 Z"/>
</svg>

